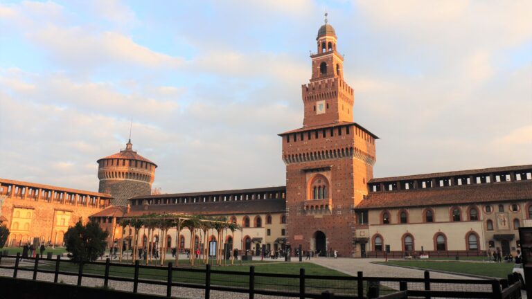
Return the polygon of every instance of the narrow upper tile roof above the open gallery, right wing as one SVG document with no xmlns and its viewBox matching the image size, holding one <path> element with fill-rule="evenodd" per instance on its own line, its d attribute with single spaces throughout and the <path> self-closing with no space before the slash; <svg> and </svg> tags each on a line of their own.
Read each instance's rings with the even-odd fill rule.
<svg viewBox="0 0 532 299">
<path fill-rule="evenodd" d="M 469 176 L 469 175 L 474 175 L 474 174 L 489 174 L 489 173 L 499 173 L 499 172 L 518 172 L 520 170 L 532 170 L 532 165 L 492 167 L 492 168 L 481 168 L 481 169 L 476 169 L 476 170 L 459 170 L 459 171 L 452 171 L 452 172 L 434 172 L 432 174 L 414 174 L 414 175 L 407 175 L 407 176 L 389 176 L 389 177 L 384 177 L 384 178 L 371 179 L 368 183 L 445 178 L 445 177 L 450 177 L 450 176 Z"/>
</svg>

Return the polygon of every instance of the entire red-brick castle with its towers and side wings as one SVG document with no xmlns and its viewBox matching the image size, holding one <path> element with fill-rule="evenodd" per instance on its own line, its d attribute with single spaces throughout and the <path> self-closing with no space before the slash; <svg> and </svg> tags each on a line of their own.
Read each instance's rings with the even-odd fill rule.
<svg viewBox="0 0 532 299">
<path fill-rule="evenodd" d="M 123 239 L 129 248 L 121 218 L 175 212 L 227 216 L 243 229 L 223 241 L 255 254 L 286 246 L 348 257 L 516 251 L 517 228 L 532 219 L 532 165 L 373 178 L 378 137 L 353 122 L 355 91 L 344 81 L 335 29 L 324 24 L 316 41 L 301 87 L 303 126 L 279 134 L 285 186 L 152 195 L 157 165 L 129 141 L 98 160 L 98 192 L 0 179 L 9 244 L 61 244 L 68 226 L 91 217 L 109 230 L 109 245 Z M 199 244 L 187 230 L 155 239 L 183 249 L 193 237 Z"/>
</svg>

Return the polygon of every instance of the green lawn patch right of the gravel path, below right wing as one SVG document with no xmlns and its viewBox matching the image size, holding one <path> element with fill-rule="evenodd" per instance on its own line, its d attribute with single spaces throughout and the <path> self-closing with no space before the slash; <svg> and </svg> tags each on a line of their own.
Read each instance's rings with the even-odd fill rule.
<svg viewBox="0 0 532 299">
<path fill-rule="evenodd" d="M 488 276 L 491 278 L 507 278 L 512 273 L 513 263 L 493 262 L 458 262 L 458 261 L 431 261 L 431 260 L 392 260 L 378 262 L 378 264 L 411 266 L 425 270 L 446 271 L 456 274 L 472 274 Z"/>
</svg>

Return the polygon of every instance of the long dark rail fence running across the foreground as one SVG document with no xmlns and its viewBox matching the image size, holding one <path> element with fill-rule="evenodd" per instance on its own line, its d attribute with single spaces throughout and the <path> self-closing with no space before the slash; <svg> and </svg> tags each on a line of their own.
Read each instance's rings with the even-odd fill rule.
<svg viewBox="0 0 532 299">
<path fill-rule="evenodd" d="M 521 298 L 520 281 L 457 280 L 430 278 L 366 277 L 256 273 L 249 271 L 141 266 L 105 262 L 74 263 L 70 260 L 0 255 L 0 269 L 12 270 L 13 278 L 47 280 L 93 287 L 116 288 L 134 293 L 166 293 L 180 298 L 251 298 L 256 294 L 289 298 Z"/>
</svg>

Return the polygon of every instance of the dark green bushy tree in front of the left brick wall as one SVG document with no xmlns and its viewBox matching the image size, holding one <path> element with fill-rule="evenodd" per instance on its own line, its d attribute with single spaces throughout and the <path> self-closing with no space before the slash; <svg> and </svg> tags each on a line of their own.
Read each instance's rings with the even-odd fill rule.
<svg viewBox="0 0 532 299">
<path fill-rule="evenodd" d="M 81 219 L 64 234 L 67 251 L 76 262 L 94 261 L 103 255 L 107 247 L 109 233 L 103 231 L 96 221 L 89 221 L 85 226 Z"/>
</svg>

